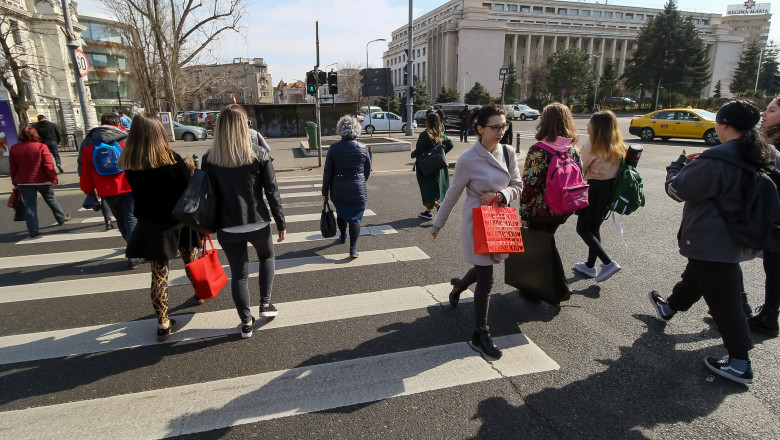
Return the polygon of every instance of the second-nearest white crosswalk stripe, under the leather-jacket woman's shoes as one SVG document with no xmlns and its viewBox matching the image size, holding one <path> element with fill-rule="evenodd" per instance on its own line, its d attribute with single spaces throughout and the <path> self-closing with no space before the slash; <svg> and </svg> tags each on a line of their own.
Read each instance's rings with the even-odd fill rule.
<svg viewBox="0 0 780 440">
<path fill-rule="evenodd" d="M 449 283 L 430 286 L 274 303 L 279 316 L 272 320 L 260 318 L 258 330 L 316 324 L 340 319 L 360 318 L 403 312 L 446 304 L 452 286 Z M 222 289 L 230 294 L 230 286 Z M 439 298 L 445 301 L 441 302 Z M 473 293 L 461 294 L 461 303 L 473 301 Z M 259 316 L 257 306 L 251 308 Z M 238 316 L 234 309 L 216 312 L 174 315 L 178 330 L 165 343 L 238 334 Z M 55 330 L 0 337 L 0 365 L 53 359 L 72 355 L 100 353 L 133 347 L 157 345 L 153 329 L 157 319 L 120 322 L 82 328 Z M 150 330 L 152 329 L 152 330 Z"/>
</svg>

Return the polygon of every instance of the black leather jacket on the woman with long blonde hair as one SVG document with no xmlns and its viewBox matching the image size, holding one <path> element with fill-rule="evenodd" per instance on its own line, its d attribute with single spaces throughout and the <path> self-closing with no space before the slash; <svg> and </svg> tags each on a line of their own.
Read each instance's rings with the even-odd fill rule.
<svg viewBox="0 0 780 440">
<path fill-rule="evenodd" d="M 211 178 L 217 197 L 217 227 L 219 229 L 262 221 L 276 221 L 276 229 L 284 231 L 287 225 L 282 212 L 282 198 L 276 185 L 276 174 L 271 158 L 262 148 L 253 148 L 257 158 L 249 165 L 223 168 L 209 162 L 209 153 L 203 155 L 203 171 Z M 268 199 L 271 213 L 263 201 Z"/>
</svg>

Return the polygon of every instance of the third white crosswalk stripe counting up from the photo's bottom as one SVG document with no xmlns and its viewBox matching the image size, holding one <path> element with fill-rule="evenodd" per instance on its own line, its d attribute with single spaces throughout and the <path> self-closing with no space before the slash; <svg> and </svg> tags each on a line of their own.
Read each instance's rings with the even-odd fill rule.
<svg viewBox="0 0 780 440">
<path fill-rule="evenodd" d="M 313 272 L 318 270 L 343 269 L 346 267 L 371 266 L 403 261 L 425 260 L 430 257 L 417 246 L 361 251 L 360 258 L 352 259 L 349 253 L 316 255 L 311 257 L 285 258 L 276 260 L 276 275 Z M 223 266 L 230 278 L 230 267 Z M 249 277 L 258 276 L 259 263 L 249 264 Z M 0 304 L 51 298 L 65 298 L 97 293 L 112 293 L 149 288 L 149 273 L 113 275 L 107 277 L 80 278 L 64 281 L 39 282 L 0 286 Z M 172 270 L 168 275 L 169 286 L 189 284 L 183 269 Z"/>
</svg>

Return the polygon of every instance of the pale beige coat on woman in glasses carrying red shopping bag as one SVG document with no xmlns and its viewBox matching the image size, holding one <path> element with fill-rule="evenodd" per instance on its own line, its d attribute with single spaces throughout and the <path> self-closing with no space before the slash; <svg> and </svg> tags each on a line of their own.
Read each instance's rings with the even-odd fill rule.
<svg viewBox="0 0 780 440">
<path fill-rule="evenodd" d="M 523 187 L 522 175 L 517 167 L 517 158 L 514 150 L 508 145 L 499 145 L 499 148 L 507 148 L 509 151 L 509 166 L 505 167 L 482 144 L 477 141 L 473 147 L 466 150 L 458 158 L 455 165 L 450 188 L 444 196 L 436 218 L 433 221 L 433 230 L 438 231 L 444 227 L 452 208 L 458 203 L 463 190 L 466 190 L 466 200 L 463 202 L 463 217 L 460 227 L 460 240 L 463 247 L 463 259 L 476 266 L 488 266 L 500 262 L 507 254 L 475 254 L 474 232 L 472 228 L 473 208 L 481 206 L 479 196 L 488 192 L 501 192 L 504 200 L 512 201 L 520 197 Z M 503 162 L 504 155 L 501 153 Z M 508 168 L 508 170 L 507 170 Z M 511 172 L 509 171 L 511 170 Z"/>
</svg>

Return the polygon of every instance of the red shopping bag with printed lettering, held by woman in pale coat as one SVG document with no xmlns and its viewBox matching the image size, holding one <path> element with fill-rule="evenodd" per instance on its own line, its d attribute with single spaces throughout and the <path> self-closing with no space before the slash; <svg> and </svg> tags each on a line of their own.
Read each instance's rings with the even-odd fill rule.
<svg viewBox="0 0 780 440">
<path fill-rule="evenodd" d="M 475 254 L 523 252 L 520 219 L 514 208 L 480 206 L 472 209 Z"/>
</svg>

